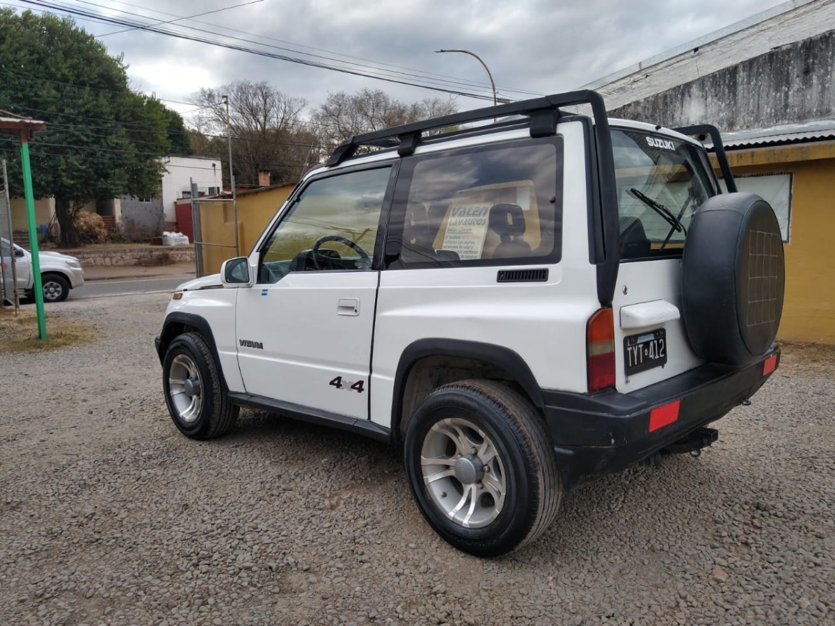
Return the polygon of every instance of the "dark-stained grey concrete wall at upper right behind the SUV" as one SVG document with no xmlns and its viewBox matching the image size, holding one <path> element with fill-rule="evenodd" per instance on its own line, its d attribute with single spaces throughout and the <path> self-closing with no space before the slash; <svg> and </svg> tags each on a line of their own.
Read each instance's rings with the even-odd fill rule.
<svg viewBox="0 0 835 626">
<path fill-rule="evenodd" d="M 835 114 L 835 30 L 628 103 L 616 118 L 722 131 L 827 119 Z"/>
</svg>

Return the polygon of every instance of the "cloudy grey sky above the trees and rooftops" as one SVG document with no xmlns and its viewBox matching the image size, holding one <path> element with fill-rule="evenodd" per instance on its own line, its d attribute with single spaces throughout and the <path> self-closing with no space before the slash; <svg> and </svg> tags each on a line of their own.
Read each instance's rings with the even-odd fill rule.
<svg viewBox="0 0 835 626">
<path fill-rule="evenodd" d="M 0 4 L 70 15 L 78 26 L 99 37 L 109 53 L 124 54 L 134 88 L 155 93 L 187 118 L 194 109 L 186 104 L 192 93 L 237 79 L 266 81 L 305 98 L 311 108 L 328 93 L 362 88 L 379 88 L 408 102 L 455 98 L 460 110 L 483 106 L 483 99 L 461 94 L 492 98 L 483 68 L 467 54 L 434 53 L 442 48 L 467 49 L 483 58 L 499 98 L 568 91 L 781 3 L 4 0 Z M 170 34 L 135 28 L 139 24 Z"/>
</svg>

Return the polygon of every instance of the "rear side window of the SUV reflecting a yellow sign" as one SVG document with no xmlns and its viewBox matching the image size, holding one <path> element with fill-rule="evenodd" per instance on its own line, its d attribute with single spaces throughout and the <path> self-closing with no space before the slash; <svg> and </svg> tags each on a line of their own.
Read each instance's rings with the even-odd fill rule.
<svg viewBox="0 0 835 626">
<path fill-rule="evenodd" d="M 394 196 L 392 269 L 556 262 L 563 143 L 526 139 L 405 159 Z"/>
</svg>

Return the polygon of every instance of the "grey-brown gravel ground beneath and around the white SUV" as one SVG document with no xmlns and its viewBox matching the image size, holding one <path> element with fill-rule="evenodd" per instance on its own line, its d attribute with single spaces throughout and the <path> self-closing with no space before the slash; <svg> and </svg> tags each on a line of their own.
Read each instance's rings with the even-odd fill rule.
<svg viewBox="0 0 835 626">
<path fill-rule="evenodd" d="M 181 436 L 166 302 L 54 305 L 96 341 L 0 359 L 0 623 L 835 623 L 831 378 L 778 371 L 700 458 L 581 487 L 479 560 L 423 522 L 391 447 L 255 411 Z"/>
</svg>

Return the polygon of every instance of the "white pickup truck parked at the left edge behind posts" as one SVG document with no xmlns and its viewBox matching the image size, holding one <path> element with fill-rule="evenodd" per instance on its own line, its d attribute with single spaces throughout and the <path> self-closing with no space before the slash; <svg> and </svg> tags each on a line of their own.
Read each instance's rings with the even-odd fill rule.
<svg viewBox="0 0 835 626">
<path fill-rule="evenodd" d="M 0 240 L 2 253 L 2 278 L 6 285 L 4 297 L 11 297 L 12 263 L 17 276 L 18 295 L 33 297 L 34 275 L 32 273 L 32 253 L 6 239 Z M 43 282 L 43 300 L 61 302 L 67 299 L 69 290 L 84 284 L 84 270 L 74 256 L 59 252 L 39 252 L 41 281 Z"/>
</svg>

